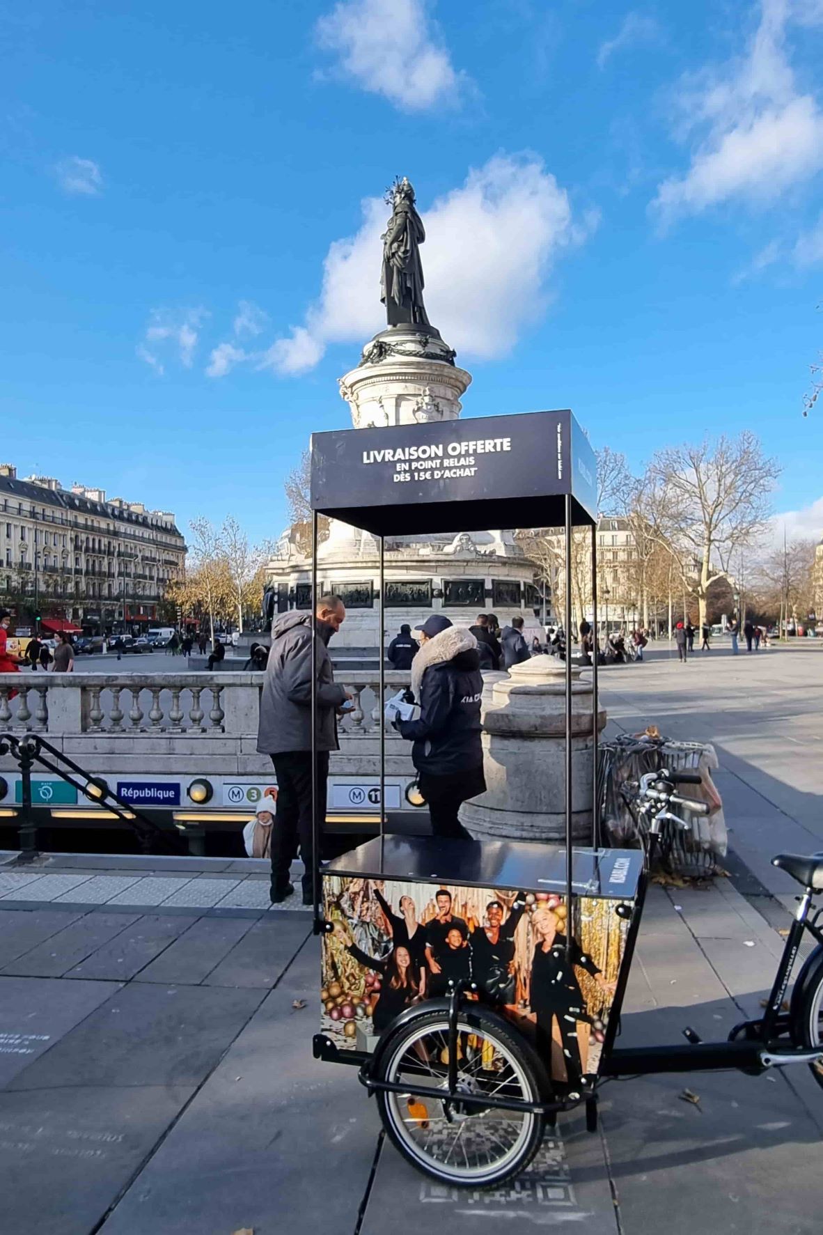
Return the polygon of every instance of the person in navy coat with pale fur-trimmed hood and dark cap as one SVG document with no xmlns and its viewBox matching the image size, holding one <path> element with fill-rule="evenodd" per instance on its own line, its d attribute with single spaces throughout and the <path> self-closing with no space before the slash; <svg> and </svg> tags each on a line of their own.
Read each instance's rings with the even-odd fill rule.
<svg viewBox="0 0 823 1235">
<path fill-rule="evenodd" d="M 432 614 L 416 629 L 421 632 L 421 650 L 412 664 L 411 689 L 420 704 L 420 719 L 395 718 L 392 724 L 401 737 L 413 743 L 412 763 L 434 835 L 471 840 L 458 810 L 486 789 L 478 641 L 443 614 Z"/>
</svg>

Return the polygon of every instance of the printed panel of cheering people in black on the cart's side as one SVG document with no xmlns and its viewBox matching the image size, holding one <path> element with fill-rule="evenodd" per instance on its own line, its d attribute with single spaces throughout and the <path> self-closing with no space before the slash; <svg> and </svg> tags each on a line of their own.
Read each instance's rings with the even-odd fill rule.
<svg viewBox="0 0 823 1235">
<path fill-rule="evenodd" d="M 406 1008 L 468 978 L 556 1081 L 596 1073 L 628 927 L 614 909 L 573 898 L 569 963 L 569 913 L 556 893 L 327 874 L 321 1029 L 343 1050 L 371 1052 Z"/>
</svg>

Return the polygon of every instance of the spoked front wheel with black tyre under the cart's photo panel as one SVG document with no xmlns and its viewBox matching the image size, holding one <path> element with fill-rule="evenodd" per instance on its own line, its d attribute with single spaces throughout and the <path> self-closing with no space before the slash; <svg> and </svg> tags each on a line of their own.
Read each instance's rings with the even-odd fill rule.
<svg viewBox="0 0 823 1235">
<path fill-rule="evenodd" d="M 466 1092 L 473 1093 L 482 1093 L 484 1087 L 489 1087 L 487 1092 L 492 1093 L 506 1086 L 513 1098 L 524 1102 L 545 1102 L 549 1098 L 552 1089 L 543 1065 L 529 1044 L 501 1016 L 474 1004 L 461 1009 L 458 1025 L 460 1051 L 465 1044 L 466 1052 L 466 1065 L 461 1062 L 463 1056 L 458 1065 L 458 1086 L 465 1084 Z M 470 1046 L 469 1037 L 473 1035 L 482 1039 L 480 1047 Z M 406 1098 L 378 1091 L 380 1118 L 395 1147 L 423 1174 L 457 1187 L 490 1188 L 518 1174 L 529 1165 L 543 1141 L 545 1116 L 498 1108 L 464 1107 L 461 1112 L 455 1108 L 447 1112 L 447 1104 L 434 1097 L 447 1083 L 443 1051 L 439 1050 L 447 1036 L 448 1013 L 443 1008 L 421 1009 L 420 1015 L 389 1030 L 380 1046 L 375 1077 L 397 1084 L 402 1084 L 403 1077 L 413 1079 L 417 1086 L 431 1087 L 433 1097 Z M 420 1051 L 426 1056 L 424 1062 L 421 1062 L 415 1050 L 416 1044 L 420 1044 Z M 469 1051 L 473 1049 L 476 1053 L 469 1061 Z M 444 1050 L 448 1052 L 448 1047 Z M 492 1052 L 491 1057 L 489 1051 Z M 437 1057 L 438 1053 L 440 1058 Z M 484 1060 L 489 1062 L 484 1063 Z M 426 1074 L 426 1070 L 429 1074 Z M 498 1079 L 501 1076 L 502 1081 Z M 421 1118 L 415 1109 L 412 1118 L 403 1118 L 403 1104 L 407 1112 L 415 1104 L 422 1107 L 426 1114 Z M 437 1126 L 427 1136 L 432 1125 Z M 463 1130 L 469 1125 L 471 1131 L 468 1137 L 463 1137 Z M 457 1132 L 453 1131 L 455 1128 Z M 503 1132 L 508 1128 L 511 1132 Z M 418 1144 L 418 1135 L 421 1140 L 424 1137 L 423 1144 Z M 508 1146 L 507 1140 L 511 1140 Z M 449 1162 L 452 1149 L 458 1142 L 465 1158 L 464 1165 L 457 1160 Z M 476 1153 L 475 1163 L 470 1163 L 469 1153 Z M 485 1161 L 480 1161 L 481 1155 L 486 1156 Z"/>
</svg>

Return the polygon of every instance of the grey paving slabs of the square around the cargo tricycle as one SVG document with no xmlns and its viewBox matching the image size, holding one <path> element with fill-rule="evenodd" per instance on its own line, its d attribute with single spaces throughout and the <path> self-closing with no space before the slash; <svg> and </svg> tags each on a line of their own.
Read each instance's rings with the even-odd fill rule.
<svg viewBox="0 0 823 1235">
<path fill-rule="evenodd" d="M 823 661 L 801 656 L 755 668 L 712 653 L 682 672 L 664 656 L 602 676 L 612 724 L 716 741 L 733 844 L 732 879 L 650 889 L 619 1045 L 681 1044 L 685 1025 L 723 1040 L 760 1010 L 795 892 L 770 850 L 823 848 Z M 424 1179 L 354 1071 L 311 1056 L 308 915 L 268 906 L 260 866 L 180 861 L 0 868 L 4 1231 L 819 1235 L 823 1091 L 804 1067 L 610 1083 L 600 1131 L 561 1116 L 510 1186 Z"/>
</svg>

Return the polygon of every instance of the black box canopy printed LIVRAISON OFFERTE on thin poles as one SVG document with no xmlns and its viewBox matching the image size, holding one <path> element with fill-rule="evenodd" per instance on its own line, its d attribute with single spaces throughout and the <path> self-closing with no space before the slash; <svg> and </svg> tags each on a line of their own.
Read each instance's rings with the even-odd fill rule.
<svg viewBox="0 0 823 1235">
<path fill-rule="evenodd" d="M 311 440 L 311 505 L 378 536 L 597 517 L 595 452 L 570 411 L 348 429 Z"/>
</svg>

